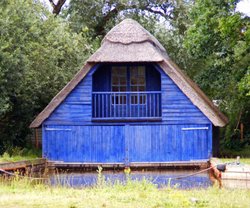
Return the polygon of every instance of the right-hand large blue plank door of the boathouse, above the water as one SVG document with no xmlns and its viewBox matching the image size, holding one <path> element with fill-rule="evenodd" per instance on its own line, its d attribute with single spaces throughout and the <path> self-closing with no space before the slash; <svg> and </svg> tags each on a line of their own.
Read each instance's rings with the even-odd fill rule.
<svg viewBox="0 0 250 208">
<path fill-rule="evenodd" d="M 128 162 L 169 162 L 211 157 L 210 125 L 131 125 Z"/>
</svg>

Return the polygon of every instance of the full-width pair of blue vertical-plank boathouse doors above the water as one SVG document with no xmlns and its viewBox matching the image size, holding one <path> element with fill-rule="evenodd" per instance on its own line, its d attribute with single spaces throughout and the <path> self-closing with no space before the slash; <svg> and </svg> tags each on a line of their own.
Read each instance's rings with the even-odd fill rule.
<svg viewBox="0 0 250 208">
<path fill-rule="evenodd" d="M 210 125 L 51 125 L 44 127 L 43 156 L 82 163 L 204 160 L 212 152 L 210 131 Z"/>
</svg>

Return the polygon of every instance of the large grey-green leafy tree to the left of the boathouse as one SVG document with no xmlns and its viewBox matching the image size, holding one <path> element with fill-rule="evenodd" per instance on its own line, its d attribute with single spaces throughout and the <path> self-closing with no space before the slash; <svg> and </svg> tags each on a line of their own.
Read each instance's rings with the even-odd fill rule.
<svg viewBox="0 0 250 208">
<path fill-rule="evenodd" d="M 92 52 L 40 3 L 0 2 L 0 153 L 24 146 L 27 128 Z"/>
</svg>

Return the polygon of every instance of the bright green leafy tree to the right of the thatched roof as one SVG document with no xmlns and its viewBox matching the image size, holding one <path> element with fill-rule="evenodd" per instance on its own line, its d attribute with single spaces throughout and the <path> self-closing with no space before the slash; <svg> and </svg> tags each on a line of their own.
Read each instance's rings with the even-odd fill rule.
<svg viewBox="0 0 250 208">
<path fill-rule="evenodd" d="M 250 21 L 235 11 L 237 3 L 195 1 L 184 41 L 187 52 L 204 62 L 194 79 L 228 115 L 230 122 L 223 137 L 229 140 L 239 123 L 244 124 L 245 135 L 250 132 Z"/>
</svg>

